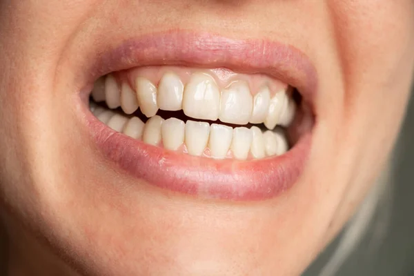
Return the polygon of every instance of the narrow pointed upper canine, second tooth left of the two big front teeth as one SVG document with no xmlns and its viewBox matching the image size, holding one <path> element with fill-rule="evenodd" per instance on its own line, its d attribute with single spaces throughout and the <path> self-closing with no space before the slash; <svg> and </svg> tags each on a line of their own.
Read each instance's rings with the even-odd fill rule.
<svg viewBox="0 0 414 276">
<path fill-rule="evenodd" d="M 138 77 L 135 80 L 135 90 L 142 114 L 148 118 L 157 114 L 157 88 L 155 85 L 148 79 Z"/>
</svg>

